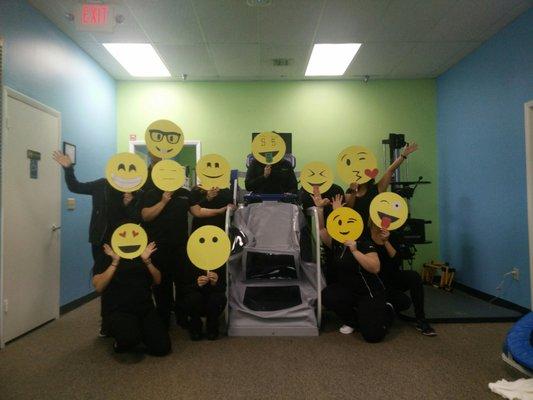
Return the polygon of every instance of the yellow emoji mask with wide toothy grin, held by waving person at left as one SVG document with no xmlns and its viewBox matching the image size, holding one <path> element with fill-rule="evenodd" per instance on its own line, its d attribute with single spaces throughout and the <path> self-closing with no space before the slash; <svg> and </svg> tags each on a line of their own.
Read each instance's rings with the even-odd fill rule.
<svg viewBox="0 0 533 400">
<path fill-rule="evenodd" d="M 109 159 L 105 167 L 109 184 L 121 192 L 139 190 L 148 177 L 144 160 L 133 153 L 118 153 Z"/>
</svg>

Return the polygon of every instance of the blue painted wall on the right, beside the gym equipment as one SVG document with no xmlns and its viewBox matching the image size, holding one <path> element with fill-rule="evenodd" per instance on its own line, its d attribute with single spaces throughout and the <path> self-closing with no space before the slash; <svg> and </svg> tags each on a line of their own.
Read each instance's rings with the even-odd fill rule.
<svg viewBox="0 0 533 400">
<path fill-rule="evenodd" d="M 440 249 L 457 279 L 530 307 L 524 103 L 533 100 L 533 9 L 437 79 Z"/>
</svg>

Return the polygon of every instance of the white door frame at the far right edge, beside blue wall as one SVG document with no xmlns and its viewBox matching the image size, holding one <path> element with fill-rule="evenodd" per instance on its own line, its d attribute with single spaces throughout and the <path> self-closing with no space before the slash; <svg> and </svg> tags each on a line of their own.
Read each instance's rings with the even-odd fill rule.
<svg viewBox="0 0 533 400">
<path fill-rule="evenodd" d="M 533 100 L 524 103 L 524 136 L 526 142 L 527 220 L 529 240 L 529 295 L 533 309 Z"/>
</svg>

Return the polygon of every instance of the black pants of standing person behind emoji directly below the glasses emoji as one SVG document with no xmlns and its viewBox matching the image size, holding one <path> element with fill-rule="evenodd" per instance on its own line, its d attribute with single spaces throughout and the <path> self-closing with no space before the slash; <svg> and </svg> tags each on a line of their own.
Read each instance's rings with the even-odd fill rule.
<svg viewBox="0 0 533 400">
<path fill-rule="evenodd" d="M 157 312 L 161 321 L 170 326 L 170 314 L 174 310 L 178 324 L 185 320 L 183 307 L 175 301 L 181 297 L 178 282 L 185 271 L 186 249 L 184 246 L 168 245 L 161 243 L 157 245 L 157 251 L 152 255 L 152 263 L 161 272 L 161 283 L 154 286 L 153 293 Z M 174 292 L 176 296 L 174 297 Z"/>
</svg>

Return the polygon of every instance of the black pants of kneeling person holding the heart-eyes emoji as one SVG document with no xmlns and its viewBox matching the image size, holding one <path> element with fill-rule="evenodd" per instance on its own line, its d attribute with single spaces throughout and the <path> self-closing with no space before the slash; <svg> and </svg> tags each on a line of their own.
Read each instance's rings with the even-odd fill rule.
<svg viewBox="0 0 533 400">
<path fill-rule="evenodd" d="M 148 353 L 165 356 L 170 353 L 168 331 L 153 306 L 138 311 L 113 311 L 104 317 L 109 334 L 115 338 L 115 351 L 122 353 L 143 343 Z"/>
</svg>

